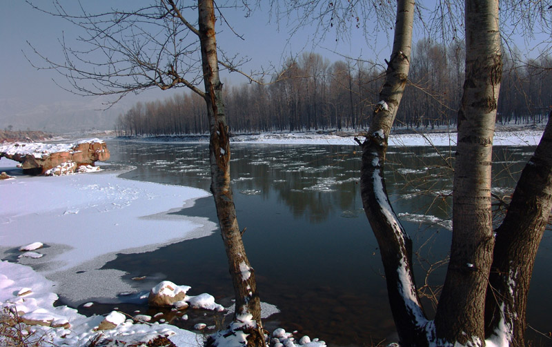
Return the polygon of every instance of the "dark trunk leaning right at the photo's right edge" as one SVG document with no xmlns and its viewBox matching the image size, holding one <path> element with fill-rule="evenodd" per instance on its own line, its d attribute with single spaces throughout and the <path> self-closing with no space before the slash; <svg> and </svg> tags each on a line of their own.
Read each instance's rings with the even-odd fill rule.
<svg viewBox="0 0 552 347">
<path fill-rule="evenodd" d="M 552 208 L 552 122 L 517 181 L 496 230 L 485 315 L 491 339 L 524 346 L 525 309 L 538 246 Z"/>
</svg>

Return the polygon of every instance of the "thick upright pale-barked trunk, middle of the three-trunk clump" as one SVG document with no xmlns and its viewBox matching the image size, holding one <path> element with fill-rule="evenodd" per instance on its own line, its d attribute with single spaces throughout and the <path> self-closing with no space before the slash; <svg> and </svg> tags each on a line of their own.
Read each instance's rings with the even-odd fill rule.
<svg viewBox="0 0 552 347">
<path fill-rule="evenodd" d="M 451 259 L 437 339 L 478 346 L 493 256 L 491 160 L 502 60 L 497 0 L 466 0 L 466 79 L 458 112 Z"/>
</svg>

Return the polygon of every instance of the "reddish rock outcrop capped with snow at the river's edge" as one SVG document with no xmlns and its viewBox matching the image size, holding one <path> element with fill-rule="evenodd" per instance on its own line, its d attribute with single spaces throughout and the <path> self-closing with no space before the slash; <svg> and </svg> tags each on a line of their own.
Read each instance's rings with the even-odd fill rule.
<svg viewBox="0 0 552 347">
<path fill-rule="evenodd" d="M 42 175 L 44 172 L 75 163 L 71 172 L 80 166 L 94 166 L 96 161 L 109 159 L 110 153 L 104 141 L 88 139 L 75 143 L 10 143 L 0 145 L 0 158 L 6 157 L 21 163 L 24 172 Z"/>
</svg>

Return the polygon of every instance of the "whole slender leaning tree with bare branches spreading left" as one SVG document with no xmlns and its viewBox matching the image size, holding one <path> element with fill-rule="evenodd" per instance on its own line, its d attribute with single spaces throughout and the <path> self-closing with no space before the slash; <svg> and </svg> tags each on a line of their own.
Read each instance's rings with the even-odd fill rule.
<svg viewBox="0 0 552 347">
<path fill-rule="evenodd" d="M 246 256 L 230 186 L 230 137 L 219 79 L 219 64 L 232 70 L 237 66 L 218 58 L 215 2 L 152 0 L 150 5 L 135 5 L 132 10 L 101 13 L 80 6 L 76 14 L 57 0 L 50 9 L 30 4 L 80 29 L 80 42 L 74 46 L 60 40 L 66 58 L 61 63 L 34 50 L 46 63 L 39 68 L 59 72 L 73 92 L 120 99 L 147 88 L 186 87 L 204 99 L 210 131 L 210 190 L 235 292 L 230 326 L 246 333 L 241 335 L 246 337 L 241 343 L 264 346 L 255 271 Z"/>
</svg>

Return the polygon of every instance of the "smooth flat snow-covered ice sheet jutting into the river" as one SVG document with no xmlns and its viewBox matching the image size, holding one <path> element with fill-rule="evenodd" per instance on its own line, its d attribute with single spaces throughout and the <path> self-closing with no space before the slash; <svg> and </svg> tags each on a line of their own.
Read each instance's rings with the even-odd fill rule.
<svg viewBox="0 0 552 347">
<path fill-rule="evenodd" d="M 10 165 L 1 159 L 0 167 Z M 155 250 L 215 230 L 206 218 L 170 214 L 208 196 L 205 190 L 130 181 L 117 177 L 121 172 L 0 181 L 0 195 L 12 197 L 0 210 L 1 257 L 31 241 L 46 244 L 43 257 L 23 264 L 36 266 L 59 284 L 59 295 L 80 304 L 135 291 L 121 281 L 123 272 L 99 270 L 117 253 Z"/>
</svg>

